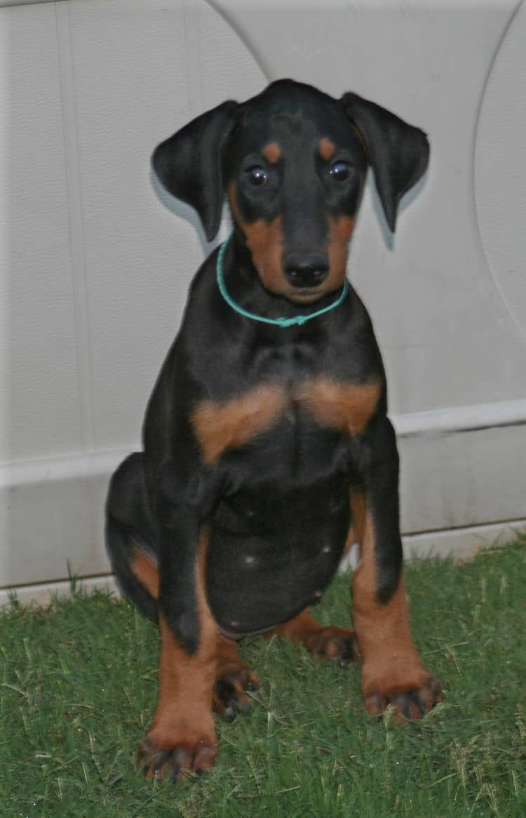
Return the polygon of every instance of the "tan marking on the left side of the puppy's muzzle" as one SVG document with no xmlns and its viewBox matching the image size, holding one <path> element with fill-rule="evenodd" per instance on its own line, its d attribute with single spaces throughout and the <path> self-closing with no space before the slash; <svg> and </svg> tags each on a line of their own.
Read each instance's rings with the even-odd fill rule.
<svg viewBox="0 0 526 818">
<path fill-rule="evenodd" d="M 272 222 L 259 218 L 256 222 L 245 222 L 239 212 L 234 185 L 229 188 L 229 200 L 234 220 L 247 237 L 247 247 L 252 255 L 261 283 L 272 292 L 281 292 L 286 285 L 281 267 L 283 254 L 283 219 Z"/>
</svg>

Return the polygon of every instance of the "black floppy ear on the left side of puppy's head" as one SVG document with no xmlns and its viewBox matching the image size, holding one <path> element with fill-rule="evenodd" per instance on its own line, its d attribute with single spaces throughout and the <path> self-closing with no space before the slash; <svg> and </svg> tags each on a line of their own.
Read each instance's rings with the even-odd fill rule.
<svg viewBox="0 0 526 818">
<path fill-rule="evenodd" d="M 193 119 L 155 148 L 152 164 L 167 191 L 197 210 L 208 241 L 219 230 L 223 205 L 223 148 L 235 124 L 237 102 Z"/>
</svg>

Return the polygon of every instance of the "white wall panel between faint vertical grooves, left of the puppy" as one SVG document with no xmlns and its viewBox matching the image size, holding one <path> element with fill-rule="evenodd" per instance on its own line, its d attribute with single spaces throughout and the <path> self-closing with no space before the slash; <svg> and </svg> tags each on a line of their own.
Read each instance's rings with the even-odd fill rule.
<svg viewBox="0 0 526 818">
<path fill-rule="evenodd" d="M 79 0 L 69 20 L 94 443 L 118 447 L 139 438 L 199 257 L 149 171 L 155 143 L 189 117 L 185 17 L 181 2 Z"/>
</svg>

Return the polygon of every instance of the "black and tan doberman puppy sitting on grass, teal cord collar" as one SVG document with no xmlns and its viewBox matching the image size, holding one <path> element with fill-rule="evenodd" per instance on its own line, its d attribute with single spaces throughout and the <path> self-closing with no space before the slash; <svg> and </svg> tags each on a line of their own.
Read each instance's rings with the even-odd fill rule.
<svg viewBox="0 0 526 818">
<path fill-rule="evenodd" d="M 140 748 L 150 778 L 214 763 L 212 710 L 234 717 L 257 685 L 243 636 L 361 657 L 371 714 L 390 703 L 418 718 L 441 700 L 409 631 L 384 369 L 345 280 L 368 165 L 394 231 L 428 155 L 426 135 L 380 106 L 292 80 L 207 111 L 154 151 L 158 179 L 208 240 L 225 192 L 234 232 L 194 277 L 144 452 L 109 488 L 114 573 L 161 631 Z M 354 536 L 354 631 L 322 627 L 306 611 Z"/>
</svg>

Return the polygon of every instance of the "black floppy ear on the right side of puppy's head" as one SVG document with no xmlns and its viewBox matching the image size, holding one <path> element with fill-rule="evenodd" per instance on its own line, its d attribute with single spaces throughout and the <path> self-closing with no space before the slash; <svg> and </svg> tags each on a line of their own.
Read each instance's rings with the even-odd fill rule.
<svg viewBox="0 0 526 818">
<path fill-rule="evenodd" d="M 394 232 L 399 200 L 427 168 L 426 134 L 358 94 L 346 93 L 341 101 L 363 137 L 387 223 Z"/>
</svg>

